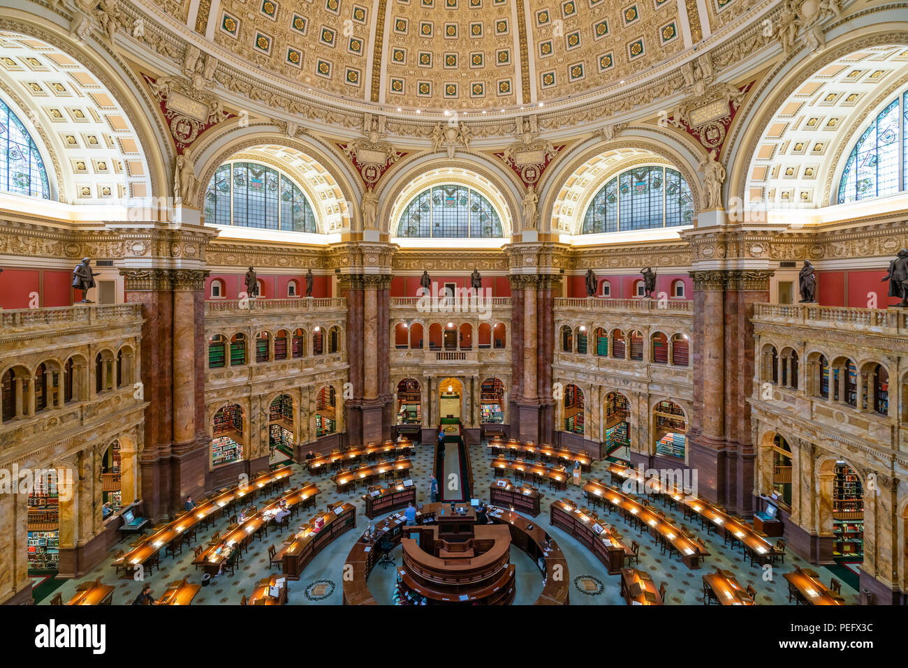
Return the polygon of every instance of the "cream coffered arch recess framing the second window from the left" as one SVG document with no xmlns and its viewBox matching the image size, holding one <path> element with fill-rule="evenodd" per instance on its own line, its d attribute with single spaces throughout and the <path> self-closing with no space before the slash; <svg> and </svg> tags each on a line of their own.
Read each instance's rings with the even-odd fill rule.
<svg viewBox="0 0 908 668">
<path fill-rule="evenodd" d="M 360 189 L 349 163 L 313 137 L 288 137 L 273 126 L 242 128 L 238 122 L 203 143 L 195 159 L 199 187 L 193 207 L 204 211 L 205 190 L 224 162 L 252 160 L 286 172 L 299 183 L 315 214 L 318 234 L 271 231 L 240 226 L 220 227 L 221 238 L 254 238 L 301 243 L 340 241 L 341 232 L 360 229 Z M 252 235 L 252 236 L 251 236 Z"/>
</svg>

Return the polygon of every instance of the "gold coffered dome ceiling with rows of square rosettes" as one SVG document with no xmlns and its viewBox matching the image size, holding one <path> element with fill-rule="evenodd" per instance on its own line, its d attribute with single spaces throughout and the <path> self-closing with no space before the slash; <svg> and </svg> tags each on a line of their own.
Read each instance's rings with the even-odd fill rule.
<svg viewBox="0 0 908 668">
<path fill-rule="evenodd" d="M 744 0 L 167 0 L 164 11 L 304 90 L 469 111 L 619 83 L 746 8 Z"/>
</svg>

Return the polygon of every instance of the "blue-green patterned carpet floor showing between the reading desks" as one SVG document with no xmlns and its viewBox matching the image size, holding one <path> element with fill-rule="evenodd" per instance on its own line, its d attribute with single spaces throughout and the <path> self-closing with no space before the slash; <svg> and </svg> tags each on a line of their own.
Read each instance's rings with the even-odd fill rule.
<svg viewBox="0 0 908 668">
<path fill-rule="evenodd" d="M 489 455 L 485 444 L 476 444 L 470 447 L 470 462 L 473 468 L 474 490 L 473 496 L 479 498 L 489 498 L 489 485 L 495 476 L 489 467 L 491 456 Z M 429 473 L 433 462 L 433 453 L 431 446 L 417 447 L 416 454 L 411 457 L 413 470 L 411 477 L 418 486 L 417 500 L 419 503 L 429 501 Z M 291 486 L 309 482 L 313 479 L 306 472 L 304 467 L 294 466 L 294 474 L 291 479 Z M 596 463 L 593 465 L 591 474 L 594 477 L 607 478 L 603 473 L 604 465 Z M 586 476 L 585 476 L 586 477 Z M 360 537 L 366 527 L 368 518 L 362 515 L 365 508 L 365 502 L 357 494 L 348 496 L 347 494 L 338 494 L 334 485 L 328 477 L 315 476 L 314 479 L 319 485 L 321 494 L 318 498 L 318 506 L 324 508 L 334 501 L 345 500 L 357 506 L 357 528 L 347 534 L 336 538 L 321 554 L 312 560 L 311 564 L 306 567 L 299 582 L 290 583 L 289 604 L 341 604 L 341 578 L 343 575 L 343 564 L 350 547 Z M 548 507 L 549 504 L 558 498 L 567 496 L 577 502 L 582 501 L 582 492 L 580 487 L 569 486 L 566 492 L 545 491 L 545 497 L 542 499 L 542 512 L 536 518 L 539 526 L 543 526 L 548 533 L 556 540 L 568 560 L 568 573 L 571 579 L 570 603 L 571 604 L 624 604 L 623 599 L 618 593 L 620 585 L 620 576 L 608 575 L 606 569 L 598 560 L 587 550 L 586 547 L 571 538 L 560 529 L 549 526 L 548 524 Z M 684 518 L 680 511 L 669 511 L 666 508 L 666 515 L 674 516 L 680 524 L 685 524 Z M 300 516 L 300 524 L 309 519 L 311 511 L 307 511 Z M 380 518 L 377 518 L 378 521 Z M 706 535 L 705 531 L 696 531 L 697 526 L 691 526 L 697 535 L 700 535 L 709 546 L 711 556 L 706 557 L 706 563 L 701 569 L 690 570 L 682 564 L 676 557 L 669 559 L 666 555 L 659 553 L 655 540 L 647 533 L 642 537 L 630 526 L 627 526 L 617 515 L 607 517 L 607 521 L 612 522 L 618 527 L 627 540 L 637 538 L 640 543 L 640 565 L 639 567 L 646 570 L 652 576 L 656 583 L 666 582 L 666 604 L 702 604 L 703 603 L 703 585 L 701 576 L 716 567 L 732 571 L 737 581 L 742 585 L 753 585 L 757 591 L 757 601 L 761 604 L 788 604 L 788 588 L 785 578 L 782 574 L 794 568 L 794 565 L 808 565 L 804 560 L 795 555 L 787 555 L 785 564 L 777 564 L 775 572 L 770 574 L 771 580 L 764 580 L 764 572 L 761 568 L 751 566 L 749 562 L 744 561 L 740 550 L 732 551 L 727 546 L 722 545 L 721 539 L 716 539 L 716 535 Z M 216 523 L 206 533 L 199 534 L 199 542 L 207 542 L 210 535 L 215 531 L 222 531 L 227 526 L 228 520 L 222 519 Z M 688 525 L 690 523 L 687 523 Z M 283 537 L 286 537 L 284 534 Z M 254 585 L 268 574 L 268 546 L 274 543 L 276 546 L 281 545 L 282 537 L 271 533 L 264 541 L 255 541 L 250 545 L 249 552 L 243 555 L 243 561 L 236 571 L 236 575 L 222 575 L 212 579 L 212 584 L 202 587 L 202 590 L 196 596 L 193 604 L 239 604 L 243 594 L 247 596 L 252 593 Z M 111 551 L 111 558 L 104 564 L 98 565 L 94 570 L 80 578 L 78 581 L 68 581 L 57 591 L 63 594 L 64 601 L 69 600 L 74 595 L 75 587 L 80 582 L 94 580 L 97 577 L 102 582 L 117 586 L 114 594 L 114 604 L 130 604 L 135 596 L 141 590 L 143 583 L 134 582 L 133 580 L 123 580 L 114 575 L 114 567 L 111 565 L 114 552 Z M 400 547 L 394 553 L 395 560 L 400 564 Z M 517 597 L 515 604 L 532 603 L 536 600 L 539 592 L 542 590 L 542 581 L 535 564 L 524 555 L 518 548 L 512 548 L 511 561 L 517 566 L 518 585 Z M 829 578 L 833 575 L 824 567 L 813 566 L 822 576 L 824 582 L 828 583 Z M 272 572 L 274 570 L 272 569 Z M 390 603 L 391 591 L 394 586 L 394 569 L 383 569 L 377 567 L 370 575 L 369 585 L 372 594 L 379 603 Z M 152 592 L 155 597 L 163 594 L 168 583 L 174 580 L 183 579 L 188 576 L 190 582 L 199 582 L 201 580 L 201 571 L 197 571 L 192 566 L 192 550 L 183 549 L 183 555 L 176 558 L 161 557 L 161 570 L 155 571 L 153 575 L 147 578 L 147 583 L 152 585 Z M 857 592 L 845 585 L 842 586 L 842 594 L 849 603 L 857 603 Z M 48 604 L 51 596 L 45 596 L 41 604 Z"/>
</svg>

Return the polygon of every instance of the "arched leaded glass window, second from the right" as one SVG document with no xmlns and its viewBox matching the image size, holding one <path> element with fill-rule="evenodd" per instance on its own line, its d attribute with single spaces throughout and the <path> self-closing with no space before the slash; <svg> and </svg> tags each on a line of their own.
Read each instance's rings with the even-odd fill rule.
<svg viewBox="0 0 908 668">
<path fill-rule="evenodd" d="M 608 181 L 587 207 L 583 234 L 677 227 L 694 223 L 694 197 L 681 172 L 635 167 Z"/>
</svg>

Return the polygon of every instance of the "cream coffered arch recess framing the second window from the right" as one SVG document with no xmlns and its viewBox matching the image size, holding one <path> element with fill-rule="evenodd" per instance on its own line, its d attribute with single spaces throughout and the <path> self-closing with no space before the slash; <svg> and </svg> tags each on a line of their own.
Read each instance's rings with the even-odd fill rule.
<svg viewBox="0 0 908 668">
<path fill-rule="evenodd" d="M 642 164 L 665 165 L 681 172 L 690 186 L 696 211 L 700 211 L 703 189 L 696 165 L 702 157 L 693 142 L 678 141 L 676 137 L 649 128 L 628 129 L 611 142 L 597 137 L 587 139 L 570 149 L 558 162 L 555 172 L 546 174 L 539 208 L 547 215 L 541 217 L 540 231 L 560 234 L 561 241 L 574 245 L 678 239 L 678 230 L 684 228 L 582 234 L 584 213 L 609 179 Z M 696 212 L 694 220 L 696 224 Z"/>
</svg>

